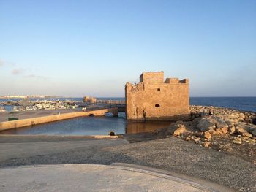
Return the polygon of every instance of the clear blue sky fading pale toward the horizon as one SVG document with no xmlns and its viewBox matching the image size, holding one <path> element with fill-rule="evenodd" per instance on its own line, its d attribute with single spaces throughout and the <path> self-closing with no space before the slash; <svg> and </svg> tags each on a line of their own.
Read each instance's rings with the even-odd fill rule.
<svg viewBox="0 0 256 192">
<path fill-rule="evenodd" d="M 0 95 L 124 96 L 148 71 L 256 96 L 256 1 L 0 0 Z"/>
</svg>

